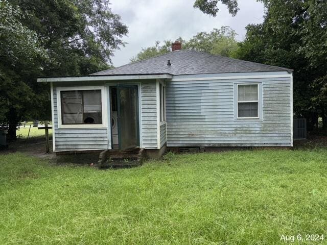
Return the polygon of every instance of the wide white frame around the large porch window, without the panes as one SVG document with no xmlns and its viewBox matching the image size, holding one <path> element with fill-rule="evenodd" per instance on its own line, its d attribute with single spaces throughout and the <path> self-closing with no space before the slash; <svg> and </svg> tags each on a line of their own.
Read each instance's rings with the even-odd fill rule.
<svg viewBox="0 0 327 245">
<path fill-rule="evenodd" d="M 60 91 L 69 90 L 101 90 L 101 106 L 102 106 L 102 124 L 61 124 L 61 100 Z M 108 109 L 107 109 L 107 89 L 106 86 L 75 86 L 75 87 L 57 87 L 57 113 L 58 113 L 58 129 L 96 129 L 108 128 Z"/>
</svg>

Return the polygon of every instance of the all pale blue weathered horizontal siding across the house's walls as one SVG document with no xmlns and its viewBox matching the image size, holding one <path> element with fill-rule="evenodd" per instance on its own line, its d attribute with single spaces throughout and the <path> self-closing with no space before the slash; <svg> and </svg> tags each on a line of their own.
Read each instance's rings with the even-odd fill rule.
<svg viewBox="0 0 327 245">
<path fill-rule="evenodd" d="M 160 128 L 157 128 L 156 82 L 139 82 L 143 148 L 158 148 L 158 130 L 160 147 L 166 142 L 168 146 L 291 145 L 290 78 L 168 81 L 167 124 Z M 235 120 L 234 84 L 239 82 L 262 84 L 261 119 Z M 65 86 L 85 85 L 65 83 Z M 58 129 L 56 83 L 53 93 L 56 151 L 107 149 L 107 128 Z"/>
</svg>

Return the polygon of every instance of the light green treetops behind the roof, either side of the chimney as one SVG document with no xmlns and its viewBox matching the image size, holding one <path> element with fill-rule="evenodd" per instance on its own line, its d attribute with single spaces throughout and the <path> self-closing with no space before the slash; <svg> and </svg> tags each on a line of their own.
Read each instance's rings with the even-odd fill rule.
<svg viewBox="0 0 327 245">
<path fill-rule="evenodd" d="M 222 27 L 221 29 L 214 29 L 209 33 L 199 32 L 188 41 L 183 40 L 181 37 L 177 40 L 182 43 L 183 49 L 231 57 L 238 49 L 238 43 L 235 39 L 236 35 L 236 32 L 231 28 Z M 171 43 L 172 41 L 166 40 L 163 45 L 159 45 L 160 42 L 156 41 L 154 46 L 142 48 L 142 51 L 134 56 L 131 62 L 167 54 L 171 52 Z"/>
</svg>

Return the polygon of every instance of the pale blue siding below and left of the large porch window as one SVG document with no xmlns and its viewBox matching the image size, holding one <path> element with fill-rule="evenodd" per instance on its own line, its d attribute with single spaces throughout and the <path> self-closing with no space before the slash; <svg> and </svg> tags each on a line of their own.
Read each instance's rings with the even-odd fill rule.
<svg viewBox="0 0 327 245">
<path fill-rule="evenodd" d="M 73 85 L 72 85 L 73 86 Z M 54 128 L 56 152 L 108 148 L 107 128 L 58 129 L 57 89 L 54 83 Z"/>
</svg>

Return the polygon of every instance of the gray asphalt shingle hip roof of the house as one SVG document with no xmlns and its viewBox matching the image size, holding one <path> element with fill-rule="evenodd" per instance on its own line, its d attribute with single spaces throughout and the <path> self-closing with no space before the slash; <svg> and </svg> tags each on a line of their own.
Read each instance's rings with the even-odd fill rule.
<svg viewBox="0 0 327 245">
<path fill-rule="evenodd" d="M 171 66 L 167 65 L 168 60 L 170 60 Z M 91 74 L 91 76 L 150 74 L 189 75 L 265 71 L 292 72 L 293 70 L 231 59 L 193 50 L 176 50 L 147 60 L 99 71 L 95 74 Z"/>
</svg>

